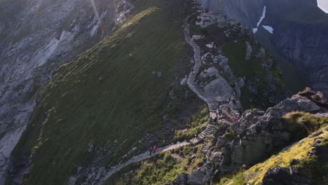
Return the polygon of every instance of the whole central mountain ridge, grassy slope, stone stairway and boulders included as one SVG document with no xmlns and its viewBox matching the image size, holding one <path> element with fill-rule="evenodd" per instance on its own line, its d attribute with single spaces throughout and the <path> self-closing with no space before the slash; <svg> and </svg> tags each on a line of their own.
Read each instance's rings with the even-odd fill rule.
<svg viewBox="0 0 328 185">
<path fill-rule="evenodd" d="M 133 6 L 42 91 L 12 153 L 8 184 L 99 182 L 149 146 L 208 133 L 208 110 L 237 114 L 285 97 L 277 61 L 236 22 L 191 1 Z"/>
</svg>

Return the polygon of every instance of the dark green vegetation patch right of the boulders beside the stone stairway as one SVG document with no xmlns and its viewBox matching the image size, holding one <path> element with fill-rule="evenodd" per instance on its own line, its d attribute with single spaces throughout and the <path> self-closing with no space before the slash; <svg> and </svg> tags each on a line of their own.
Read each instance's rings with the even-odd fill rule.
<svg viewBox="0 0 328 185">
<path fill-rule="evenodd" d="M 278 62 L 264 50 L 264 56 L 259 57 L 263 48 L 254 41 L 249 41 L 252 46 L 252 56 L 246 60 L 245 39 L 230 41 L 222 47 L 222 55 L 228 57 L 228 65 L 235 76 L 245 77 L 245 87 L 241 88 L 240 101 L 244 109 L 261 108 L 275 104 L 270 97 L 282 99 L 284 83 Z M 271 63 L 268 67 L 264 63 Z M 269 85 L 268 85 L 269 84 Z M 274 89 L 274 90 L 273 90 Z"/>
</svg>

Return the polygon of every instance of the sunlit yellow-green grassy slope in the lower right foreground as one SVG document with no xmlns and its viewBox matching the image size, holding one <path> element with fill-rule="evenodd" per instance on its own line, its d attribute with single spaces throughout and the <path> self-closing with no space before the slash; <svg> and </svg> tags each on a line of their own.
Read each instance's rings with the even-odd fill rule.
<svg viewBox="0 0 328 185">
<path fill-rule="evenodd" d="M 306 174 L 308 178 L 315 179 L 319 184 L 322 183 L 322 169 L 327 168 L 327 163 L 320 163 L 320 160 L 317 157 L 308 156 L 307 153 L 312 149 L 313 141 L 317 137 L 323 137 L 324 142 L 322 146 L 327 146 L 328 144 L 328 118 L 319 118 L 312 116 L 306 113 L 291 113 L 287 114 L 283 118 L 286 124 L 291 124 L 291 128 L 304 128 L 308 130 L 308 133 L 317 130 L 317 128 L 322 127 L 321 135 L 315 137 L 306 137 L 293 144 L 286 151 L 282 151 L 277 155 L 271 156 L 264 163 L 259 163 L 254 165 L 246 171 L 240 171 L 237 174 L 227 175 L 226 177 L 221 178 L 219 184 L 261 184 L 261 180 L 264 177 L 264 174 L 268 171 L 269 168 L 275 166 L 289 167 L 289 163 L 293 159 L 299 159 L 300 163 L 297 165 Z M 288 123 L 287 123 L 288 122 Z"/>
</svg>

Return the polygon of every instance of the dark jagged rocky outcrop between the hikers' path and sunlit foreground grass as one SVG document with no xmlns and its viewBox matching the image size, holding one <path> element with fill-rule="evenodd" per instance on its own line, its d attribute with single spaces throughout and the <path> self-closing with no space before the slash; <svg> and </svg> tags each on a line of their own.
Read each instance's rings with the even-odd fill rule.
<svg viewBox="0 0 328 185">
<path fill-rule="evenodd" d="M 265 114 L 259 109 L 245 111 L 240 121 L 228 128 L 234 133 L 232 141 L 227 137 L 218 137 L 213 143 L 217 147 L 224 146 L 220 171 L 231 172 L 242 166 L 250 167 L 273 152 L 306 137 L 306 130 L 289 129 L 288 124 L 281 121 L 282 116 L 292 111 L 316 112 L 322 109 L 308 98 L 294 95 L 269 108 Z"/>
</svg>

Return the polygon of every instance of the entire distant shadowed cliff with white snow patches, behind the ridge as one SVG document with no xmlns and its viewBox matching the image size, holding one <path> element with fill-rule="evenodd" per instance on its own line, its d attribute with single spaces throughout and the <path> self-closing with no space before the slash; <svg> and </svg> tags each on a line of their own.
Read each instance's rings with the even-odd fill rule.
<svg viewBox="0 0 328 185">
<path fill-rule="evenodd" d="M 258 30 L 259 41 L 293 64 L 308 85 L 327 95 L 328 15 L 317 7 L 317 1 L 204 0 L 202 3 L 209 11 L 219 11 L 249 29 Z M 295 76 L 285 68 L 286 78 Z"/>
</svg>

